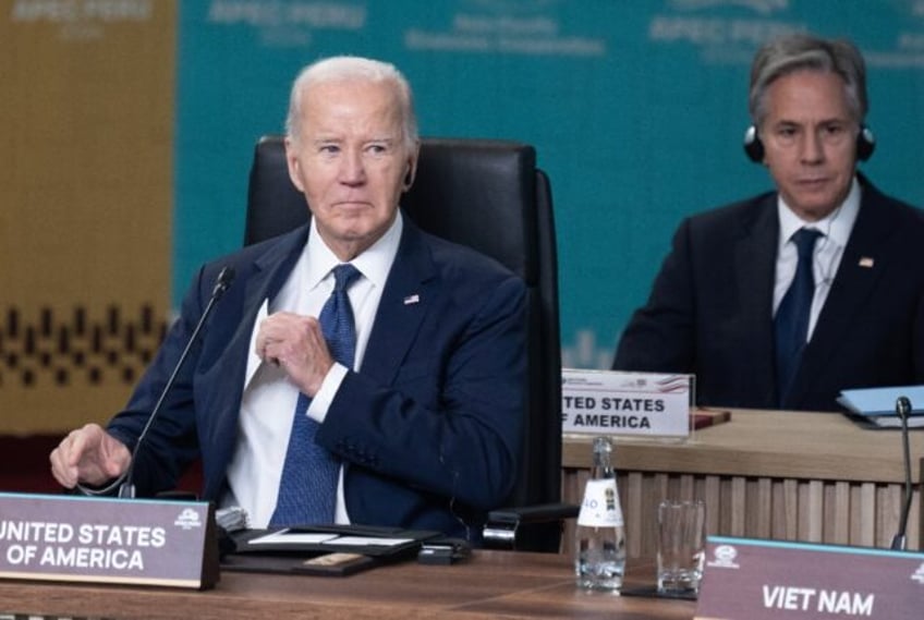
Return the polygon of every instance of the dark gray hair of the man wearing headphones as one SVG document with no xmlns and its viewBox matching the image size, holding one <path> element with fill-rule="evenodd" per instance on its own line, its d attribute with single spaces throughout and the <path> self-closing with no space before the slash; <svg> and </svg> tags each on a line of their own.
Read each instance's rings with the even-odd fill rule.
<svg viewBox="0 0 924 620">
<path fill-rule="evenodd" d="M 770 84 L 804 70 L 839 75 L 854 120 L 863 123 L 868 110 L 866 64 L 856 46 L 847 39 L 828 40 L 792 33 L 769 41 L 754 56 L 747 109 L 755 125 L 759 126 L 767 116 L 766 94 Z"/>
</svg>

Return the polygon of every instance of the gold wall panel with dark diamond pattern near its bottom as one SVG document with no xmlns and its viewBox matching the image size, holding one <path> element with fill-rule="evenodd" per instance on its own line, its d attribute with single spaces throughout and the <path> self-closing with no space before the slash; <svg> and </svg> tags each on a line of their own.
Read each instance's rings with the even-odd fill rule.
<svg viewBox="0 0 924 620">
<path fill-rule="evenodd" d="M 102 422 L 163 333 L 175 2 L 4 4 L 0 434 Z"/>
</svg>

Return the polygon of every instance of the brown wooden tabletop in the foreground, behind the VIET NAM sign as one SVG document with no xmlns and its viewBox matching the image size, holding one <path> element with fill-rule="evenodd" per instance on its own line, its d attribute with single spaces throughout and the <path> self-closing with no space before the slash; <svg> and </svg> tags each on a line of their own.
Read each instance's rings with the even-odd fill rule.
<svg viewBox="0 0 924 620">
<path fill-rule="evenodd" d="M 628 583 L 635 586 L 654 575 L 651 562 L 630 564 L 629 571 Z M 223 571 L 205 592 L 0 581 L 0 618 L 689 620 L 695 607 L 690 600 L 579 591 L 568 557 L 515 551 L 475 551 L 452 566 L 405 561 L 345 578 Z"/>
</svg>

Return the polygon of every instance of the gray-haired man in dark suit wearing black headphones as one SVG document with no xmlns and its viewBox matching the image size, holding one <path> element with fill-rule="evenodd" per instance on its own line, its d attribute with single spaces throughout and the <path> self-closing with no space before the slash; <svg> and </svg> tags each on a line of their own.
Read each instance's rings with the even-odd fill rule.
<svg viewBox="0 0 924 620">
<path fill-rule="evenodd" d="M 846 40 L 756 53 L 744 149 L 776 191 L 685 219 L 612 367 L 692 373 L 704 405 L 837 411 L 924 382 L 924 212 L 856 171 L 873 154 Z"/>
</svg>

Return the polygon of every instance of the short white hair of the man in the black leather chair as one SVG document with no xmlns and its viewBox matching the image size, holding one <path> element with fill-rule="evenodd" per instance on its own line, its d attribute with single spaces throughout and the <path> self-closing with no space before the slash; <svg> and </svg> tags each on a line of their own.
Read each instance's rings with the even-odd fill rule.
<svg viewBox="0 0 924 620">
<path fill-rule="evenodd" d="M 348 81 L 393 86 L 401 107 L 404 142 L 409 148 L 413 148 L 418 139 L 417 116 L 414 112 L 414 96 L 408 80 L 393 64 L 352 56 L 326 58 L 302 69 L 292 84 L 289 97 L 289 113 L 285 118 L 285 134 L 289 138 L 297 143 L 301 137 L 302 100 L 305 93 L 318 84 Z"/>
</svg>

